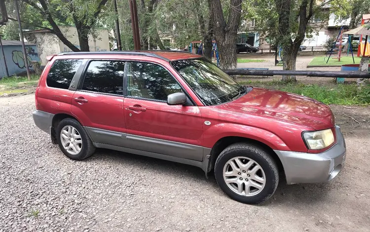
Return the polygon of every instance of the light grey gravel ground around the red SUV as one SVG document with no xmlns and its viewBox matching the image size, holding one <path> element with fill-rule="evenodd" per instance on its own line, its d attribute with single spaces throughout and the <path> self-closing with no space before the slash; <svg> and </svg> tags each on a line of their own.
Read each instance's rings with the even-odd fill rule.
<svg viewBox="0 0 370 232">
<path fill-rule="evenodd" d="M 252 206 L 196 167 L 109 150 L 70 160 L 34 125 L 34 108 L 33 95 L 0 98 L 0 232 L 370 230 L 368 127 L 349 133 L 346 166 L 332 182 L 283 180 Z"/>
</svg>

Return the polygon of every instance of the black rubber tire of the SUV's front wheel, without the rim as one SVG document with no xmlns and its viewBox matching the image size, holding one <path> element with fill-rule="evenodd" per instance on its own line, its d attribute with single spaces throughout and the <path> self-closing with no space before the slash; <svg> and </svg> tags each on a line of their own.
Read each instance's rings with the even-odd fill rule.
<svg viewBox="0 0 370 232">
<path fill-rule="evenodd" d="M 263 169 L 266 177 L 266 183 L 263 190 L 254 196 L 242 196 L 234 193 L 225 183 L 223 179 L 223 167 L 231 158 L 244 156 L 256 161 Z M 257 145 L 247 143 L 236 143 L 228 146 L 217 157 L 215 164 L 215 177 L 220 188 L 232 199 L 246 203 L 258 204 L 269 199 L 276 191 L 279 183 L 279 171 L 275 161 Z"/>
</svg>

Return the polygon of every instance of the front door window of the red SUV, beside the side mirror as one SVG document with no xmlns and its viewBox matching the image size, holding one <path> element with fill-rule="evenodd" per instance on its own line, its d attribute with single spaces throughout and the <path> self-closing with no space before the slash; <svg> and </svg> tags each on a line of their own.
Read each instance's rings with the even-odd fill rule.
<svg viewBox="0 0 370 232">
<path fill-rule="evenodd" d="M 166 101 L 172 93 L 182 92 L 176 80 L 162 67 L 148 63 L 127 63 L 129 96 Z"/>
</svg>

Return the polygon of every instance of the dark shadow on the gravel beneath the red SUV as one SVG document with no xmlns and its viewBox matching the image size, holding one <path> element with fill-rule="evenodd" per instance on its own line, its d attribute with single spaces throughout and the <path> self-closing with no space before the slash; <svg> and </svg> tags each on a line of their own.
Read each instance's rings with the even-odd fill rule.
<svg viewBox="0 0 370 232">
<path fill-rule="evenodd" d="M 117 167 L 128 165 L 138 170 L 148 169 L 148 173 L 161 172 L 171 177 L 180 176 L 185 179 L 193 179 L 196 182 L 202 182 L 202 184 L 205 184 L 205 186 L 209 188 L 214 188 L 215 191 L 220 192 L 218 194 L 223 194 L 215 180 L 214 174 L 209 173 L 209 178 L 207 179 L 203 170 L 195 166 L 108 149 L 97 149 L 95 155 L 85 160 L 85 162 L 94 163 L 101 161 L 109 162 L 110 165 L 116 165 Z M 271 203 L 295 203 L 299 205 L 312 204 L 315 202 L 319 203 L 327 200 L 330 191 L 333 189 L 334 186 L 331 182 L 322 184 L 287 185 L 284 175 L 280 175 L 279 186 L 275 194 L 260 206 L 267 206 Z M 225 195 L 225 197 L 227 196 Z"/>
</svg>

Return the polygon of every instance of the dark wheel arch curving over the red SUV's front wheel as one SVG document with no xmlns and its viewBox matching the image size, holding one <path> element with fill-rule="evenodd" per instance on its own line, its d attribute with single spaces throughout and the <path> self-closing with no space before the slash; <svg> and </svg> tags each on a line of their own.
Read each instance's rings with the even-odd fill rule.
<svg viewBox="0 0 370 232">
<path fill-rule="evenodd" d="M 230 146 L 232 144 L 240 143 L 240 142 L 244 142 L 244 143 L 248 143 L 248 144 L 254 144 L 254 145 L 259 146 L 261 149 L 263 149 L 265 152 L 267 152 L 274 159 L 274 161 L 278 165 L 279 172 L 284 173 L 283 164 L 282 164 L 280 158 L 278 157 L 278 155 L 276 155 L 276 153 L 273 151 L 273 149 L 271 149 L 268 145 L 266 145 L 265 143 L 262 143 L 258 140 L 245 138 L 245 137 L 240 137 L 240 136 L 223 137 L 215 143 L 215 145 L 213 146 L 213 148 L 211 150 L 211 153 L 210 153 L 207 173 L 211 172 L 214 169 L 217 157 L 221 154 L 221 152 L 225 148 L 227 148 L 228 146 Z"/>
</svg>

